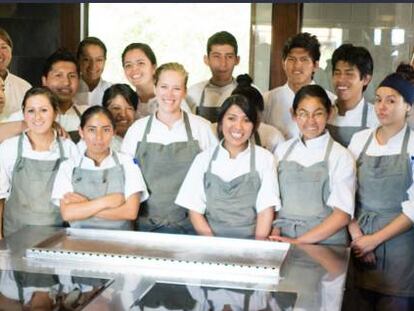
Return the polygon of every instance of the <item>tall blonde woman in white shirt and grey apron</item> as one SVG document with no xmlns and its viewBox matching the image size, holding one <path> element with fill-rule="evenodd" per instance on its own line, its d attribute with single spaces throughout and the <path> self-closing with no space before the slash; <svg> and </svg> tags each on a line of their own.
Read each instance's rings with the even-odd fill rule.
<svg viewBox="0 0 414 311">
<path fill-rule="evenodd" d="M 216 138 L 210 122 L 181 109 L 187 79 L 180 64 L 157 68 L 158 109 L 135 121 L 124 137 L 121 150 L 139 161 L 151 193 L 138 217 L 140 231 L 192 232 L 186 210 L 174 200 L 194 157 L 216 144 Z"/>
</svg>

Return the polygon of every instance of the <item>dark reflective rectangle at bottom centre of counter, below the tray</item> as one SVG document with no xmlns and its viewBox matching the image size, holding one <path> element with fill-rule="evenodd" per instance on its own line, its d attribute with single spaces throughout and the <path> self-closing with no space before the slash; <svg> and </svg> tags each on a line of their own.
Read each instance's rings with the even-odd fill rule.
<svg viewBox="0 0 414 311">
<path fill-rule="evenodd" d="M 157 282 L 130 310 L 292 310 L 293 292 L 191 286 Z"/>
</svg>

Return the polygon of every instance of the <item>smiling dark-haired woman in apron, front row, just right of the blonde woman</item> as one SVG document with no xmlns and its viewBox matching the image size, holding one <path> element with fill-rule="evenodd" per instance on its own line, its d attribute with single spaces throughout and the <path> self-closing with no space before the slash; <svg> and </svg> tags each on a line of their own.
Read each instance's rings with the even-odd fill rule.
<svg viewBox="0 0 414 311">
<path fill-rule="evenodd" d="M 221 106 L 221 142 L 195 158 L 175 201 L 189 209 L 198 234 L 268 237 L 280 203 L 273 155 L 250 142 L 258 124 L 256 107 L 243 95 Z"/>
</svg>

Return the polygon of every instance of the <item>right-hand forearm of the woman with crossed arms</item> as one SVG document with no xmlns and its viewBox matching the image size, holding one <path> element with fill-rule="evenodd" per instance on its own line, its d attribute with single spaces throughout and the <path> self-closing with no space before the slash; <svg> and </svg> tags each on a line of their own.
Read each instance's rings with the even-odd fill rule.
<svg viewBox="0 0 414 311">
<path fill-rule="evenodd" d="M 104 209 L 96 214 L 96 217 L 107 220 L 135 220 L 139 210 L 140 195 L 131 195 L 124 204 L 117 207 Z"/>
</svg>

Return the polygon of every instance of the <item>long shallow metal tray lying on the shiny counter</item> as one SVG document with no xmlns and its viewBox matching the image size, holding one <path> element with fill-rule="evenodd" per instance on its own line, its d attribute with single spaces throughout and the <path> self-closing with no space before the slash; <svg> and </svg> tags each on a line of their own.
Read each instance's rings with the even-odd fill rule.
<svg viewBox="0 0 414 311">
<path fill-rule="evenodd" d="M 188 272 L 215 279 L 275 283 L 287 243 L 125 232 L 66 229 L 26 250 L 29 259 L 82 261 Z"/>
</svg>

